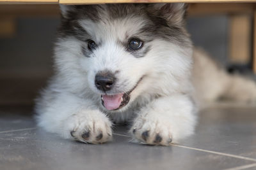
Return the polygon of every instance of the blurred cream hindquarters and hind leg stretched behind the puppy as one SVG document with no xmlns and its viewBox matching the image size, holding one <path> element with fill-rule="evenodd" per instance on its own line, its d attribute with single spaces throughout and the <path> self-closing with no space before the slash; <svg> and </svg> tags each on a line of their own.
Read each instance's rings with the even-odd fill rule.
<svg viewBox="0 0 256 170">
<path fill-rule="evenodd" d="M 223 67 L 214 62 L 202 49 L 194 50 L 193 59 L 194 97 L 200 108 L 205 108 L 218 99 L 255 105 L 255 81 L 226 73 Z"/>
</svg>

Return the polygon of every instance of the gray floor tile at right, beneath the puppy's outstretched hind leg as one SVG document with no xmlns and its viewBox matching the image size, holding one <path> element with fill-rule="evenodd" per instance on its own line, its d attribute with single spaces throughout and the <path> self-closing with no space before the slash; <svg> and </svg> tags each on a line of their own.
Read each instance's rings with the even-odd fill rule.
<svg viewBox="0 0 256 170">
<path fill-rule="evenodd" d="M 256 108 L 207 109 L 199 122 L 181 145 L 256 159 Z"/>
</svg>

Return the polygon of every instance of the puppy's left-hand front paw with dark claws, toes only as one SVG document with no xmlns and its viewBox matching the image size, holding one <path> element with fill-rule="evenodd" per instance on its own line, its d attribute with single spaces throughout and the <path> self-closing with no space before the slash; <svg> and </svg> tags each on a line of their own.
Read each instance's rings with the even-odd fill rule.
<svg viewBox="0 0 256 170">
<path fill-rule="evenodd" d="M 103 113 L 92 112 L 72 116 L 74 127 L 70 135 L 84 143 L 99 144 L 111 141 L 111 122 Z"/>
</svg>

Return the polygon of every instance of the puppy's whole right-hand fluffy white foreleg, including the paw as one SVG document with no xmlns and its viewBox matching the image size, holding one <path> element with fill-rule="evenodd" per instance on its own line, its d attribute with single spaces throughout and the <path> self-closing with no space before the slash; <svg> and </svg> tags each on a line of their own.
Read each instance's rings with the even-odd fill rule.
<svg viewBox="0 0 256 170">
<path fill-rule="evenodd" d="M 170 145 L 193 134 L 195 106 L 188 96 L 159 97 L 134 119 L 131 134 L 136 141 L 150 145 Z"/>
</svg>

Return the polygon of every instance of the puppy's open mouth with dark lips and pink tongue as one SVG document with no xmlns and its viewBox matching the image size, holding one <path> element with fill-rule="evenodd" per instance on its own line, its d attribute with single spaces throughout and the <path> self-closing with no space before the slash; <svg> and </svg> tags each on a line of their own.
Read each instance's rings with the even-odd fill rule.
<svg viewBox="0 0 256 170">
<path fill-rule="evenodd" d="M 107 110 L 119 110 L 120 108 L 126 106 L 130 101 L 131 92 L 138 86 L 142 78 L 140 78 L 136 85 L 128 92 L 113 95 L 102 95 L 101 103 L 104 106 L 104 108 L 106 108 Z"/>
</svg>

